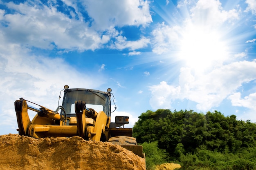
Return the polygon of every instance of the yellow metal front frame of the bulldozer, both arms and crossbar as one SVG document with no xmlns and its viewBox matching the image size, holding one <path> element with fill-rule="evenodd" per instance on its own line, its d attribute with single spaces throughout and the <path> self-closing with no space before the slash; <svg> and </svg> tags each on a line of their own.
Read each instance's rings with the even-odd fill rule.
<svg viewBox="0 0 256 170">
<path fill-rule="evenodd" d="M 86 118 L 86 110 L 83 109 L 82 114 L 76 113 L 75 118 L 70 119 L 72 125 L 64 125 L 64 120 L 59 114 L 50 112 L 46 117 L 34 116 L 34 119 L 30 121 L 28 115 L 27 102 L 23 99 L 15 101 L 15 110 L 18 121 L 18 131 L 20 135 L 31 136 L 34 138 L 43 138 L 48 136 L 81 136 L 82 138 L 88 138 L 95 141 L 101 140 L 101 134 L 105 134 L 108 139 L 108 116 L 105 112 L 96 112 L 96 120 Z M 56 121 L 58 124 L 56 124 Z M 88 125 L 87 125 L 88 124 Z"/>
</svg>

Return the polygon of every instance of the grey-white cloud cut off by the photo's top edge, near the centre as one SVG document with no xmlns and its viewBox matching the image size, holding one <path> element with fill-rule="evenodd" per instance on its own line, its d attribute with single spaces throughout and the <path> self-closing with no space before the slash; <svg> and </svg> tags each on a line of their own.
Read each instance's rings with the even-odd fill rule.
<svg viewBox="0 0 256 170">
<path fill-rule="evenodd" d="M 115 26 L 146 26 L 152 22 L 147 0 L 85 0 L 93 27 L 101 30 Z"/>
</svg>

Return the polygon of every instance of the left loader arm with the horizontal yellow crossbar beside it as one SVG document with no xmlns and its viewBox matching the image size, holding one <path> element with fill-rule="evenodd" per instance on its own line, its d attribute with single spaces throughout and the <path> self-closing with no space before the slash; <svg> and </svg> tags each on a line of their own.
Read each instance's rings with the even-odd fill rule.
<svg viewBox="0 0 256 170">
<path fill-rule="evenodd" d="M 35 109 L 34 107 L 28 106 L 27 101 L 23 98 L 16 100 L 14 106 L 18 122 L 17 130 L 20 135 L 30 136 L 37 139 L 48 136 L 71 137 L 77 135 L 77 126 L 63 125 L 64 116 L 60 116 L 59 114 L 52 112 L 52 110 L 45 107 L 43 110 Z M 36 112 L 40 114 L 37 114 L 34 119 L 30 121 L 28 109 L 33 111 L 36 110 Z M 45 113 L 43 114 L 43 112 Z M 56 125 L 56 123 L 58 124 Z"/>
</svg>

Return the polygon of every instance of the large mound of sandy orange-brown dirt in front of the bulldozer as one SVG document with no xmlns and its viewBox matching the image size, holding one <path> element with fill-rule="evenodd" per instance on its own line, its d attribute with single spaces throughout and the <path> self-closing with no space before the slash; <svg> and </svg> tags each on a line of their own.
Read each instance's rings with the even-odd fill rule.
<svg viewBox="0 0 256 170">
<path fill-rule="evenodd" d="M 71 138 L 0 136 L 2 170 L 145 170 L 144 159 L 119 145 Z"/>
</svg>

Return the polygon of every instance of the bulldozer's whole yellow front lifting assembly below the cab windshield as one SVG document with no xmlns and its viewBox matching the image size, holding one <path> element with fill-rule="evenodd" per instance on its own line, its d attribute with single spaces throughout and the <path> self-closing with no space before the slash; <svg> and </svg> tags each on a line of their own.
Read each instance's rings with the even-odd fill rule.
<svg viewBox="0 0 256 170">
<path fill-rule="evenodd" d="M 32 121 L 29 119 L 28 110 L 38 113 Z M 27 101 L 23 98 L 15 101 L 15 111 L 20 135 L 37 139 L 50 136 L 71 137 L 77 135 L 85 140 L 108 140 L 108 131 L 105 132 L 108 127 L 108 116 L 103 111 L 97 113 L 93 109 L 87 108 L 85 101 L 75 102 L 76 121 L 74 125 L 66 125 L 67 118 L 65 116 L 45 107 L 36 109 L 27 105 Z M 90 121 L 89 119 L 93 120 Z M 87 122 L 90 125 L 87 125 Z M 105 135 L 104 139 L 102 135 Z"/>
</svg>

